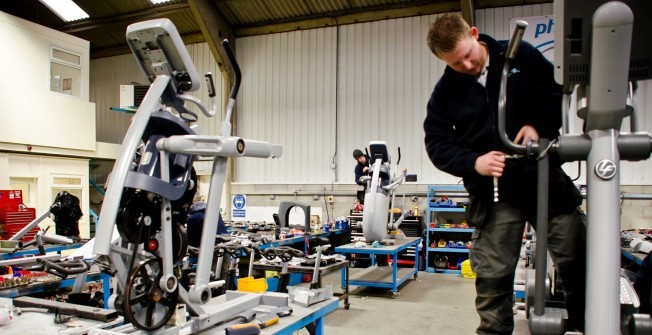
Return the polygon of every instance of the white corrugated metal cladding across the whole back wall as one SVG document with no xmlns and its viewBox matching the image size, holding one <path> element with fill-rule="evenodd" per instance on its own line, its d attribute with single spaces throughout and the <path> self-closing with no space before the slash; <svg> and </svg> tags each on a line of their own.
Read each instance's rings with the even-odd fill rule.
<svg viewBox="0 0 652 335">
<path fill-rule="evenodd" d="M 332 1 L 328 6 L 336 7 L 338 3 Z M 306 4 L 311 10 L 321 10 L 310 1 Z M 283 4 L 270 2 L 270 6 L 276 5 Z M 300 10 L 304 9 L 296 9 L 297 13 Z M 510 18 L 551 14 L 549 3 L 479 9 L 476 25 L 480 32 L 508 39 Z M 426 103 L 445 68 L 425 41 L 428 26 L 436 17 L 238 38 L 236 57 L 243 82 L 232 121 L 233 133 L 281 144 L 284 153 L 278 159 L 231 160 L 235 164 L 234 181 L 352 183 L 353 149 L 364 149 L 369 141 L 382 140 L 387 141 L 392 168 L 398 158 L 397 148 L 401 147 L 399 168 L 418 174 L 419 183 L 458 182 L 459 178 L 432 165 L 423 145 Z M 219 73 L 206 44 L 187 47 L 200 73 Z M 92 61 L 91 101 L 97 104 L 98 140 L 122 141 L 130 116 L 108 108 L 117 106 L 120 84 L 142 83 L 141 77 L 131 55 Z M 222 85 L 219 75 L 215 78 L 216 84 Z M 228 87 L 217 91 L 222 93 L 218 100 L 224 106 Z M 196 94 L 205 91 L 202 88 Z M 649 81 L 640 82 L 635 100 L 640 130 L 652 131 L 650 97 Z M 202 133 L 217 134 L 221 119 L 200 116 Z M 628 122 L 624 131 L 629 130 Z M 573 117 L 571 126 L 573 133 L 580 133 L 582 122 Z M 569 175 L 578 175 L 578 164 L 566 164 Z M 652 183 L 652 161 L 623 162 L 621 171 L 623 184 Z M 581 172 L 577 182 L 583 181 Z"/>
</svg>

